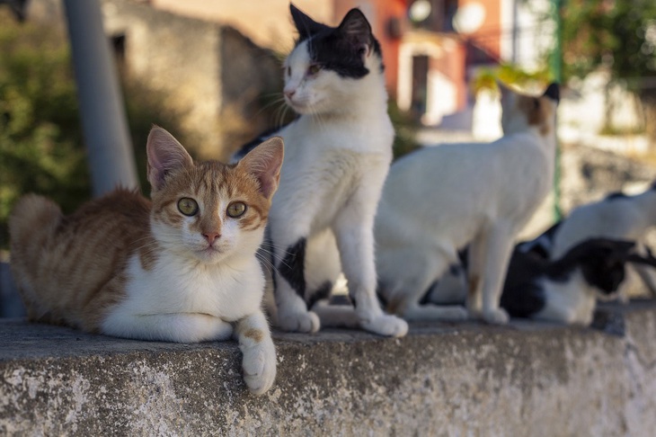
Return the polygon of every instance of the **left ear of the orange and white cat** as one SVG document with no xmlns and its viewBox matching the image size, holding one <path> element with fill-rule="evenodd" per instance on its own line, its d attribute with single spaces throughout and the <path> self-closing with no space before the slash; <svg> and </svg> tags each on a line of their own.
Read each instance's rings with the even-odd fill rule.
<svg viewBox="0 0 656 437">
<path fill-rule="evenodd" d="M 166 129 L 153 126 L 146 142 L 148 182 L 153 190 L 164 186 L 164 178 L 174 169 L 193 165 L 193 160 L 182 144 Z"/>
</svg>

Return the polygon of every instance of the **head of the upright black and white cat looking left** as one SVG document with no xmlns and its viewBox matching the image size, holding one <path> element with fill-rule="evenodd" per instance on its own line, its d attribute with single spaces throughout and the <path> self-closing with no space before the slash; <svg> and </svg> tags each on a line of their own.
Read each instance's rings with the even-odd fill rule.
<svg viewBox="0 0 656 437">
<path fill-rule="evenodd" d="M 340 111 L 359 95 L 363 78 L 381 73 L 367 18 L 352 9 L 332 28 L 290 8 L 299 40 L 283 64 L 285 101 L 301 114 Z"/>
</svg>

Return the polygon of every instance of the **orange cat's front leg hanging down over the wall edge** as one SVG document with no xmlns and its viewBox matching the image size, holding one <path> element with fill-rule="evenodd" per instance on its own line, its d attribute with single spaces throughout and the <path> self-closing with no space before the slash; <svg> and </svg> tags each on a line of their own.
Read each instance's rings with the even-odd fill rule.
<svg viewBox="0 0 656 437">
<path fill-rule="evenodd" d="M 235 335 L 244 358 L 244 382 L 255 395 L 262 395 L 276 379 L 276 348 L 262 311 L 237 321 Z"/>
</svg>

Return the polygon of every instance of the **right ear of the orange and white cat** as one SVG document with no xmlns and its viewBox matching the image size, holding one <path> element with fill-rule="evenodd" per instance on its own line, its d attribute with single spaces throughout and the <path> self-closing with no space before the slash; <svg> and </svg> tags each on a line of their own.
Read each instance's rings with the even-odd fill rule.
<svg viewBox="0 0 656 437">
<path fill-rule="evenodd" d="M 260 183 L 260 192 L 267 199 L 278 190 L 280 168 L 285 155 L 285 147 L 280 137 L 269 138 L 260 146 L 253 148 L 239 161 L 237 168 L 254 174 Z"/>
</svg>

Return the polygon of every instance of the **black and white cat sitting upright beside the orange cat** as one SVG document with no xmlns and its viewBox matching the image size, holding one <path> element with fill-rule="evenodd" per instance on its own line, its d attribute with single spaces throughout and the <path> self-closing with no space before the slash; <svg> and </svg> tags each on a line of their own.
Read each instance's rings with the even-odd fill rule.
<svg viewBox="0 0 656 437">
<path fill-rule="evenodd" d="M 272 318 L 287 331 L 348 325 L 402 336 L 407 323 L 386 315 L 376 296 L 374 216 L 394 139 L 380 46 L 359 9 L 336 28 L 290 9 L 299 37 L 283 65 L 283 93 L 300 116 L 270 134 L 286 148 L 269 216 Z M 321 259 L 326 246 L 339 250 L 330 264 Z M 341 270 L 355 308 L 314 306 L 317 316 L 308 305 L 330 296 Z"/>
</svg>

